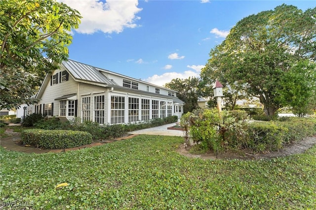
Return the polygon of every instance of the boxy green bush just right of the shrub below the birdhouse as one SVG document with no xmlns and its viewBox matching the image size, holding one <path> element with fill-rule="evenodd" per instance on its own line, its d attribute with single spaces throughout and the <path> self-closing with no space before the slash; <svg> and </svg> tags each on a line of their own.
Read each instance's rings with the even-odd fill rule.
<svg viewBox="0 0 316 210">
<path fill-rule="evenodd" d="M 248 137 L 242 142 L 244 149 L 253 151 L 279 150 L 288 129 L 274 122 L 252 122 Z"/>
</svg>

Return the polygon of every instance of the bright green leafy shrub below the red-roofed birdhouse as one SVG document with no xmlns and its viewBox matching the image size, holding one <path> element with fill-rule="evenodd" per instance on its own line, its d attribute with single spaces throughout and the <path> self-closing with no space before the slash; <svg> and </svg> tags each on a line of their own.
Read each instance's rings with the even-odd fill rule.
<svg viewBox="0 0 316 210">
<path fill-rule="evenodd" d="M 247 130 L 248 115 L 244 111 L 223 111 L 217 109 L 199 109 L 183 115 L 181 123 L 189 122 L 190 136 L 193 142 L 200 143 L 202 150 L 213 150 L 216 155 L 228 146 L 237 145 Z M 185 141 L 187 142 L 187 136 Z"/>
</svg>

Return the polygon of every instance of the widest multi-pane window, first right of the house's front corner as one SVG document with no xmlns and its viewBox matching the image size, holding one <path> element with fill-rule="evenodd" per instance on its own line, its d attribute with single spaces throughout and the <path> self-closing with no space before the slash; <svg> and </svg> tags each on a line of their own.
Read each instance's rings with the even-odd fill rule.
<svg viewBox="0 0 316 210">
<path fill-rule="evenodd" d="M 124 123 L 125 118 L 125 97 L 111 96 L 111 124 Z"/>
</svg>

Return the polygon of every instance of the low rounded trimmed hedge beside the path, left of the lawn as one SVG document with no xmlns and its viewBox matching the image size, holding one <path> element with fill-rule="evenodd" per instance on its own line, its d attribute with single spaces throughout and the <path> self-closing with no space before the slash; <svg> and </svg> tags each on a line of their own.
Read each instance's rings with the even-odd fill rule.
<svg viewBox="0 0 316 210">
<path fill-rule="evenodd" d="M 91 144 L 92 135 L 74 130 L 27 129 L 21 133 L 22 143 L 43 149 L 65 149 Z"/>
</svg>

